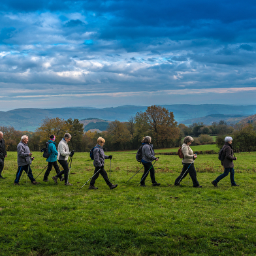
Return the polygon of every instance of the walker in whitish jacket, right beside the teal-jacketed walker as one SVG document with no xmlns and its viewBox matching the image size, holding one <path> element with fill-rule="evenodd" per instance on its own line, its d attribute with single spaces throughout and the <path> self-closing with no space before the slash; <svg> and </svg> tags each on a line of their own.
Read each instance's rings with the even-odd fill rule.
<svg viewBox="0 0 256 256">
<path fill-rule="evenodd" d="M 53 176 L 52 179 L 57 184 L 57 179 L 64 174 L 65 185 L 72 185 L 69 183 L 69 163 L 67 163 L 67 159 L 74 155 L 74 150 L 69 152 L 68 142 L 71 140 L 71 135 L 69 133 L 65 133 L 64 138 L 61 139 L 59 144 L 57 145 L 57 161 L 61 164 L 63 170 L 59 172 L 56 176 Z"/>
</svg>

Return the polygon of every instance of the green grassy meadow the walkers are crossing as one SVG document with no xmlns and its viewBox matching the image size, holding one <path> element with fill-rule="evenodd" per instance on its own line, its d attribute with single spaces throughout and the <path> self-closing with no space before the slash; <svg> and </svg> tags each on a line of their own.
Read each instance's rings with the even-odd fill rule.
<svg viewBox="0 0 256 256">
<path fill-rule="evenodd" d="M 194 151 L 216 150 L 216 145 L 192 146 Z M 161 152 L 178 149 L 155 150 Z M 75 153 L 69 182 L 31 185 L 24 176 L 14 186 L 16 152 L 8 152 L 0 180 L 0 255 L 255 255 L 256 254 L 256 152 L 236 153 L 235 180 L 229 176 L 214 187 L 223 172 L 217 155 L 199 155 L 195 161 L 202 188 L 194 188 L 189 176 L 181 186 L 174 180 L 182 170 L 177 155 L 160 155 L 155 163 L 159 187 L 150 177 L 138 184 L 142 165 L 136 151 L 113 155 L 110 190 L 101 176 L 97 190 L 89 190 L 93 161 L 89 153 Z M 46 167 L 42 153 L 35 152 L 34 177 Z M 110 160 L 105 161 L 110 173 Z M 82 187 L 82 189 L 80 189 Z"/>
</svg>

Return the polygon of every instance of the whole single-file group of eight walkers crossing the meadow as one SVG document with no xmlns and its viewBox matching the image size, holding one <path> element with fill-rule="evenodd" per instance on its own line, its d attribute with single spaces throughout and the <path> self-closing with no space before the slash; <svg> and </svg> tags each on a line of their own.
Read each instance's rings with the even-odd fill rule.
<svg viewBox="0 0 256 256">
<path fill-rule="evenodd" d="M 50 175 L 50 171 L 52 170 L 52 167 L 56 170 L 56 175 L 52 177 L 52 180 L 57 184 L 58 179 L 60 182 L 65 181 L 65 185 L 72 185 L 69 182 L 69 170 L 71 168 L 72 163 L 72 156 L 74 155 L 74 150 L 72 152 L 69 151 L 68 142 L 71 140 L 71 135 L 69 133 L 65 133 L 61 141 L 59 142 L 58 146 L 56 147 L 56 136 L 51 135 L 48 140 L 48 153 L 49 157 L 46 159 L 48 162 L 48 166 L 46 169 L 46 172 L 44 173 L 43 182 L 48 182 L 48 176 Z M 19 181 L 22 177 L 22 172 L 25 171 L 27 176 L 29 177 L 29 180 L 31 181 L 31 184 L 37 185 L 40 184 L 40 182 L 36 182 L 35 178 L 33 177 L 32 170 L 31 170 L 31 162 L 33 161 L 34 157 L 32 157 L 32 153 L 29 150 L 29 146 L 27 145 L 27 142 L 29 142 L 29 138 L 27 135 L 22 136 L 22 140 L 17 146 L 17 162 L 18 162 L 18 170 L 16 172 L 16 178 L 14 180 L 14 185 L 20 185 Z M 153 161 L 158 161 L 159 157 L 155 157 L 155 152 L 153 150 L 153 145 L 151 144 L 152 138 L 150 136 L 145 136 L 142 140 L 142 148 L 141 148 L 141 163 L 144 167 L 144 173 L 142 174 L 142 178 L 140 180 L 140 186 L 146 187 L 145 180 L 150 172 L 150 178 L 152 181 L 153 186 L 159 186 L 161 185 L 155 180 L 155 170 L 153 168 Z M 183 153 L 183 159 L 182 159 L 182 172 L 180 173 L 180 176 L 176 178 L 174 185 L 180 185 L 180 182 L 189 174 L 191 177 L 191 180 L 193 182 L 193 187 L 202 187 L 202 185 L 199 184 L 197 180 L 197 172 L 195 170 L 194 162 L 195 159 L 197 159 L 197 154 L 193 153 L 193 150 L 191 150 L 190 145 L 193 142 L 193 138 L 191 136 L 186 136 L 184 138 L 184 143 L 182 144 L 182 153 Z M 95 181 L 99 177 L 99 174 L 103 176 L 104 181 L 109 186 L 110 189 L 114 189 L 118 186 L 118 184 L 112 184 L 108 178 L 108 174 L 106 173 L 106 170 L 104 170 L 104 159 L 112 159 L 112 155 L 105 155 L 103 146 L 104 146 L 105 140 L 102 137 L 99 137 L 97 139 L 97 145 L 92 150 L 92 159 L 93 159 L 93 166 L 95 167 L 93 176 L 89 179 L 89 189 L 98 189 L 98 187 L 95 187 Z M 234 152 L 232 150 L 232 137 L 227 136 L 225 138 L 225 144 L 223 146 L 223 155 L 225 156 L 223 158 L 223 161 L 221 161 L 221 165 L 224 167 L 223 174 L 219 175 L 216 180 L 212 181 L 212 185 L 214 187 L 217 187 L 217 183 L 225 178 L 230 173 L 231 177 L 231 185 L 232 186 L 239 186 L 234 182 L 234 163 L 233 161 L 237 158 L 234 157 Z M 3 178 L 2 171 L 4 167 L 4 160 L 5 157 L 7 157 L 7 152 L 5 150 L 5 140 L 3 139 L 3 133 L 0 131 L 0 178 Z M 70 158 L 69 158 L 70 157 Z M 69 162 L 68 162 L 69 159 Z M 63 168 L 62 171 L 59 170 L 59 165 L 57 163 L 59 162 L 59 165 Z M 70 164 L 70 167 L 69 167 Z M 64 175 L 64 177 L 63 177 Z M 88 180 L 88 182 L 89 182 Z M 87 182 L 86 182 L 87 184 Z"/>
</svg>

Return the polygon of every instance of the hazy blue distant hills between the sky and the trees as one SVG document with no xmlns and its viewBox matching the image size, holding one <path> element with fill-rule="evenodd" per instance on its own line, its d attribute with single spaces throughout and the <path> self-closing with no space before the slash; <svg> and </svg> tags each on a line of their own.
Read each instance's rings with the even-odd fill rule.
<svg viewBox="0 0 256 256">
<path fill-rule="evenodd" d="M 212 121 L 219 121 L 224 117 L 212 116 L 216 114 L 226 115 L 227 120 L 232 123 L 242 120 L 256 114 L 256 106 L 234 106 L 225 104 L 172 104 L 162 105 L 174 113 L 174 118 L 178 123 L 191 123 L 203 120 L 206 124 Z M 136 112 L 144 112 L 148 106 L 118 106 L 115 108 L 90 108 L 90 107 L 72 107 L 72 108 L 18 108 L 7 112 L 0 111 L 0 126 L 13 126 L 20 131 L 35 131 L 44 118 L 77 118 L 85 120 L 88 118 L 101 120 L 119 120 L 127 121 Z M 208 116 L 208 117 L 207 117 Z M 241 116 L 241 119 L 240 117 Z M 242 118 L 243 117 L 243 118 Z M 226 121 L 226 120 L 225 120 Z M 102 124 L 103 125 L 103 124 Z M 95 128 L 96 129 L 96 128 Z"/>
</svg>

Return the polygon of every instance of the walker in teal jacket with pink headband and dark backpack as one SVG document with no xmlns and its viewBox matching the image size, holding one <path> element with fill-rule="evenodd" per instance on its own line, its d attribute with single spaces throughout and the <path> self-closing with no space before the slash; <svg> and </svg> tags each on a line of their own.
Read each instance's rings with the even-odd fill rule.
<svg viewBox="0 0 256 256">
<path fill-rule="evenodd" d="M 59 174 L 59 165 L 57 164 L 57 149 L 56 149 L 56 142 L 55 142 L 56 136 L 51 135 L 50 140 L 48 140 L 48 153 L 50 153 L 50 156 L 46 159 L 48 162 L 48 167 L 46 172 L 44 173 L 44 179 L 43 182 L 48 182 L 48 176 L 50 174 L 50 171 L 52 170 L 52 167 L 56 170 L 56 174 Z M 59 177 L 59 180 L 62 182 L 64 180 L 63 176 Z"/>
</svg>

